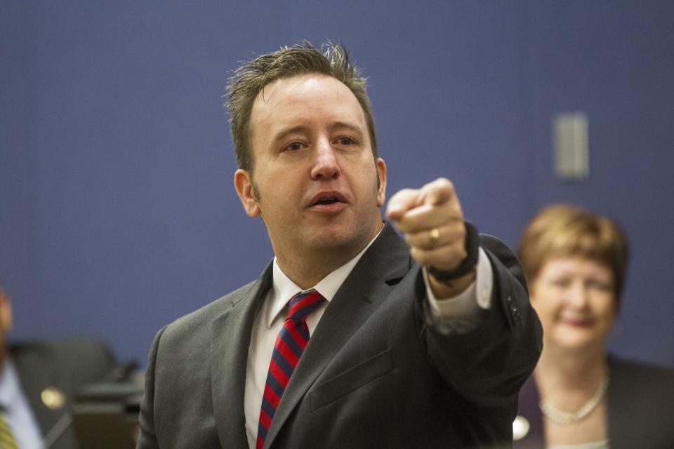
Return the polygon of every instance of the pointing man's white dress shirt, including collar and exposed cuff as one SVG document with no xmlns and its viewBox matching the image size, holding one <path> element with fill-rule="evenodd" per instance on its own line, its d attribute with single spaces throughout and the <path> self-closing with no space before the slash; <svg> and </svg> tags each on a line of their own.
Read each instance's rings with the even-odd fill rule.
<svg viewBox="0 0 674 449">
<path fill-rule="evenodd" d="M 381 231 L 380 231 L 381 232 Z M 260 406 L 262 396 L 267 382 L 267 371 L 274 351 L 274 343 L 279 335 L 283 322 L 285 320 L 287 304 L 291 297 L 302 291 L 316 290 L 325 298 L 325 302 L 307 317 L 307 327 L 311 335 L 323 313 L 328 307 L 329 302 L 342 286 L 342 283 L 348 278 L 353 267 L 356 266 L 360 257 L 367 248 L 377 239 L 368 243 L 368 245 L 358 253 L 353 259 L 349 260 L 341 267 L 325 276 L 313 288 L 302 290 L 296 283 L 291 281 L 284 272 L 282 272 L 276 257 L 274 258 L 272 272 L 272 288 L 270 288 L 265 298 L 265 302 L 253 322 L 253 333 L 251 335 L 251 345 L 248 349 L 248 363 L 246 366 L 246 390 L 244 393 L 244 414 L 246 417 L 246 436 L 251 449 L 256 447 L 258 435 L 258 422 L 260 420 Z M 430 310 L 433 314 L 439 314 L 445 319 L 456 321 L 458 328 L 462 331 L 468 330 L 466 322 L 470 322 L 473 317 L 482 309 L 489 309 L 489 298 L 493 286 L 492 269 L 487 254 L 480 248 L 480 256 L 477 261 L 475 282 L 470 284 L 460 295 L 452 298 L 440 300 L 435 298 L 428 286 L 425 269 L 423 270 L 424 281 L 426 285 L 426 294 L 430 302 Z M 283 313 L 282 313 L 283 312 Z M 468 325 L 470 326 L 470 325 Z"/>
</svg>

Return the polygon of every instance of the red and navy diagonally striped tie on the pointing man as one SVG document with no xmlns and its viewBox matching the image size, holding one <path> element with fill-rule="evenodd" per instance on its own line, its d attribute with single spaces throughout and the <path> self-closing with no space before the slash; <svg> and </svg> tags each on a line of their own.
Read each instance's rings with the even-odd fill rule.
<svg viewBox="0 0 674 449">
<path fill-rule="evenodd" d="M 290 310 L 286 315 L 279 336 L 274 343 L 272 360 L 269 363 L 267 384 L 260 408 L 260 424 L 258 424 L 258 439 L 256 449 L 265 445 L 267 431 L 272 424 L 272 418 L 281 401 L 281 396 L 288 386 L 290 376 L 297 366 L 300 356 L 309 342 L 309 328 L 307 316 L 320 307 L 325 300 L 317 291 L 298 293 L 291 297 Z"/>
</svg>

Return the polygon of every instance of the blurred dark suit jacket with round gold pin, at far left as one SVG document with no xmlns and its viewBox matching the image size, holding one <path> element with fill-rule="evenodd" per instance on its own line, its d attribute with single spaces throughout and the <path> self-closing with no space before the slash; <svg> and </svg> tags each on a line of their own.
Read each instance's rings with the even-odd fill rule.
<svg viewBox="0 0 674 449">
<path fill-rule="evenodd" d="M 55 427 L 55 434 L 59 434 L 49 448 L 77 448 L 72 426 L 67 426 L 75 392 L 110 373 L 115 366 L 110 349 L 98 340 L 72 338 L 14 343 L 9 353 L 42 435 Z M 56 387 L 65 394 L 62 408 L 53 410 L 42 402 L 41 393 L 47 387 Z M 66 427 L 59 432 L 63 424 Z"/>
</svg>

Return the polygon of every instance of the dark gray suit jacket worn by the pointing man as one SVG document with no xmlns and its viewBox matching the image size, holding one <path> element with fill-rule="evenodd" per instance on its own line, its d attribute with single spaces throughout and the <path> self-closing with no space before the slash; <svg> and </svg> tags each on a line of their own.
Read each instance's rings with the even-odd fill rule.
<svg viewBox="0 0 674 449">
<path fill-rule="evenodd" d="M 291 377 L 265 448 L 465 448 L 509 445 L 517 392 L 541 350 L 524 277 L 482 236 L 493 308 L 465 335 L 425 314 L 421 267 L 392 230 L 330 302 Z M 257 281 L 161 329 L 147 366 L 138 448 L 246 448 L 251 327 L 272 282 Z"/>
</svg>

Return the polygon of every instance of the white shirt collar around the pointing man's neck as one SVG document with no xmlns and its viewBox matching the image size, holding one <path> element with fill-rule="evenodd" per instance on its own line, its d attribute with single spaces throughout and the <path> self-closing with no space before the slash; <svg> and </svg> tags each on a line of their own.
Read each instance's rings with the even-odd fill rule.
<svg viewBox="0 0 674 449">
<path fill-rule="evenodd" d="M 270 304 L 270 307 L 267 307 L 267 328 L 272 326 L 274 319 L 278 316 L 278 314 L 281 313 L 284 307 L 286 307 L 286 304 L 288 304 L 290 298 L 297 293 L 316 290 L 321 294 L 322 297 L 325 298 L 327 302 L 330 302 L 336 295 L 337 290 L 339 290 L 346 278 L 351 273 L 353 267 L 356 266 L 367 248 L 369 248 L 372 243 L 374 243 L 383 229 L 384 227 L 382 226 L 381 229 L 379 229 L 377 235 L 374 236 L 374 239 L 369 241 L 369 243 L 360 253 L 355 255 L 355 257 L 343 264 L 338 269 L 325 276 L 323 279 L 321 279 L 321 281 L 319 281 L 319 283 L 308 290 L 302 290 L 297 286 L 296 283 L 291 281 L 291 279 L 282 271 L 281 267 L 279 267 L 279 263 L 276 257 L 274 257 L 274 264 L 272 267 L 272 289 L 274 290 L 272 293 L 273 302 Z"/>
</svg>

